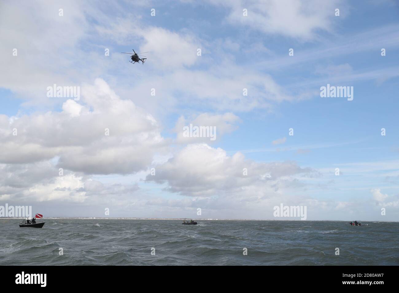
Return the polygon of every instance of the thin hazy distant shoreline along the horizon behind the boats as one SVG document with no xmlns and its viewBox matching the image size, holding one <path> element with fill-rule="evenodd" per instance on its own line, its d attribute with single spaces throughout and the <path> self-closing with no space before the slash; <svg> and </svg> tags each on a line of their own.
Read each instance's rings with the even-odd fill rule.
<svg viewBox="0 0 399 293">
<path fill-rule="evenodd" d="M 25 218 L 5 218 L 0 217 L 0 220 L 23 220 Z M 97 218 L 97 217 L 48 217 L 38 220 L 197 220 L 197 221 L 295 221 L 295 222 L 348 222 L 348 220 L 258 220 L 258 219 L 196 219 L 196 218 Z M 379 221 L 379 220 L 359 220 L 359 222 L 387 222 L 395 223 L 399 221 Z"/>
</svg>

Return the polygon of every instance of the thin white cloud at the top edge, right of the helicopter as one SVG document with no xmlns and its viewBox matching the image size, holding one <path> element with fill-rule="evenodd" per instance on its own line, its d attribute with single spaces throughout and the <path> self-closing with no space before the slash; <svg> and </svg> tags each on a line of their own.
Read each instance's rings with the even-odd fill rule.
<svg viewBox="0 0 399 293">
<path fill-rule="evenodd" d="M 348 14 L 347 6 L 340 0 L 250 0 L 208 2 L 227 6 L 231 11 L 227 20 L 231 24 L 256 29 L 269 34 L 280 34 L 295 39 L 310 40 L 319 31 L 333 31 L 335 8 Z M 243 9 L 248 16 L 243 16 Z"/>
</svg>

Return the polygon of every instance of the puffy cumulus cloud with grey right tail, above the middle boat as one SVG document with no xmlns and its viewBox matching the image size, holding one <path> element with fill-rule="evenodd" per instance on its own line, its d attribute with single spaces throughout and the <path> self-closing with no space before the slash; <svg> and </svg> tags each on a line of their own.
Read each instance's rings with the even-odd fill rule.
<svg viewBox="0 0 399 293">
<path fill-rule="evenodd" d="M 146 181 L 168 183 L 167 190 L 187 196 L 219 196 L 223 194 L 259 197 L 267 190 L 278 191 L 292 183 L 294 175 L 311 174 L 294 162 L 257 163 L 242 153 L 228 156 L 221 148 L 207 144 L 191 144 L 166 163 L 156 167 L 156 176 Z"/>
</svg>

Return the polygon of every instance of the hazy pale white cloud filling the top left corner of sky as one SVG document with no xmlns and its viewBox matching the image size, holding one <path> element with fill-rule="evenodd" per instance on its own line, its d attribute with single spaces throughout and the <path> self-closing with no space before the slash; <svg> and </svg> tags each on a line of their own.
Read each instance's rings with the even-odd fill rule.
<svg viewBox="0 0 399 293">
<path fill-rule="evenodd" d="M 64 16 L 59 16 L 63 8 Z M 48 100 L 46 87 L 71 85 L 68 67 L 75 60 L 75 46 L 85 37 L 87 21 L 79 2 L 2 2 L 0 18 L 0 87 L 21 97 Z M 17 56 L 13 56 L 17 49 Z M 76 75 L 76 72 L 75 72 Z M 38 93 L 42 93 L 41 95 Z"/>
</svg>

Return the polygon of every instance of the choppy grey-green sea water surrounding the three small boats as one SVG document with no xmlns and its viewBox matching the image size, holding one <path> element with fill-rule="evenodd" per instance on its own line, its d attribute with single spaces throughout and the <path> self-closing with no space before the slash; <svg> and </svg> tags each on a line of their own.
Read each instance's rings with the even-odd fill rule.
<svg viewBox="0 0 399 293">
<path fill-rule="evenodd" d="M 44 220 L 0 219 L 0 265 L 399 264 L 397 222 Z"/>
</svg>

